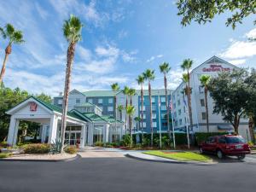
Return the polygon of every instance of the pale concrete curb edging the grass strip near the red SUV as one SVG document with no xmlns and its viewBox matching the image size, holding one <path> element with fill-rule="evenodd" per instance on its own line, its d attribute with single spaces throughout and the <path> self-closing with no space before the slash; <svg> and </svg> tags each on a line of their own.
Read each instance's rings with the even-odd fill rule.
<svg viewBox="0 0 256 192">
<path fill-rule="evenodd" d="M 190 164 L 190 165 L 197 165 L 197 166 L 213 166 L 216 165 L 216 162 L 212 163 L 203 163 L 203 162 L 195 162 L 195 161 L 178 161 L 178 160 L 148 160 L 144 158 L 140 158 L 137 156 L 133 156 L 131 154 L 124 154 L 125 157 L 135 159 L 135 160 L 144 160 L 144 161 L 151 161 L 151 162 L 159 162 L 159 163 L 174 163 L 174 164 Z"/>
</svg>

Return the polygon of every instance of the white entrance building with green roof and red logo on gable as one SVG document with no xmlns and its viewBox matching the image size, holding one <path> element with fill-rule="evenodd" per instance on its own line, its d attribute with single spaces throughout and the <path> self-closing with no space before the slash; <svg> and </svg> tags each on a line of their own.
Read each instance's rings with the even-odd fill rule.
<svg viewBox="0 0 256 192">
<path fill-rule="evenodd" d="M 62 109 L 58 106 L 30 96 L 6 113 L 11 115 L 8 134 L 10 145 L 17 143 L 20 120 L 40 125 L 39 137 L 42 143 L 55 143 L 56 138 L 61 136 Z M 96 142 L 108 143 L 113 138 L 122 137 L 123 129 L 122 121 L 103 116 L 98 108 L 84 103 L 84 108 L 74 108 L 67 113 L 65 142 L 81 148 Z"/>
</svg>

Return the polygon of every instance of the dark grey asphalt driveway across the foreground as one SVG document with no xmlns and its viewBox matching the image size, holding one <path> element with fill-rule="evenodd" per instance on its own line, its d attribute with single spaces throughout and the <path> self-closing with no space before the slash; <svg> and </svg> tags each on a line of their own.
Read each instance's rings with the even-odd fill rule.
<svg viewBox="0 0 256 192">
<path fill-rule="evenodd" d="M 256 165 L 240 161 L 197 166 L 97 156 L 69 162 L 2 161 L 0 171 L 0 191 L 4 192 L 251 192 L 256 189 Z"/>
</svg>

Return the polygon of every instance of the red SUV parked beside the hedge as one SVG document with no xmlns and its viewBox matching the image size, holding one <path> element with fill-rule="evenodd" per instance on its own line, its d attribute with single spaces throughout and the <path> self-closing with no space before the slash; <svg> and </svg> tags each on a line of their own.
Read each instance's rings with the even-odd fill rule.
<svg viewBox="0 0 256 192">
<path fill-rule="evenodd" d="M 246 154 L 250 154 L 251 150 L 241 136 L 224 135 L 208 137 L 207 141 L 199 146 L 200 153 L 214 153 L 219 159 L 225 155 L 237 156 L 239 160 L 245 158 Z"/>
</svg>

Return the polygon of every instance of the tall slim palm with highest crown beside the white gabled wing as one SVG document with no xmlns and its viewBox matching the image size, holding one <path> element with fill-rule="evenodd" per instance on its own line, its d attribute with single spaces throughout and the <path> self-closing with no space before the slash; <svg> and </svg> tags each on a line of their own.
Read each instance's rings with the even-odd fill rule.
<svg viewBox="0 0 256 192">
<path fill-rule="evenodd" d="M 188 97 L 188 107 L 189 107 L 189 123 L 190 123 L 190 129 L 193 127 L 193 119 L 192 119 L 192 107 L 191 107 L 191 89 L 190 89 L 190 74 L 189 70 L 191 69 L 193 65 L 193 61 L 190 59 L 185 59 L 183 63 L 181 64 L 181 67 L 184 72 L 187 73 L 187 97 Z"/>
</svg>

